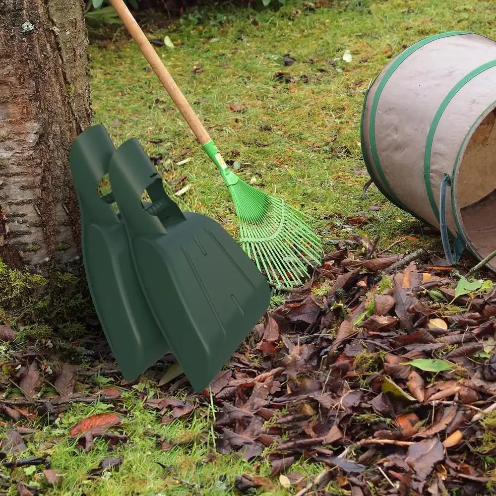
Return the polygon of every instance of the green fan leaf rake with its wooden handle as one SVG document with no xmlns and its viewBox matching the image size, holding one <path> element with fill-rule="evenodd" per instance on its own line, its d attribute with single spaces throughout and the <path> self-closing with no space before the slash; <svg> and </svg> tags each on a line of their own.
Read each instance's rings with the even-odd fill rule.
<svg viewBox="0 0 496 496">
<path fill-rule="evenodd" d="M 228 168 L 124 1 L 109 1 L 229 187 L 240 222 L 242 248 L 273 286 L 302 284 L 308 278 L 308 264 L 322 259 L 321 241 L 309 227 L 311 217 L 282 199 L 248 185 Z"/>
</svg>

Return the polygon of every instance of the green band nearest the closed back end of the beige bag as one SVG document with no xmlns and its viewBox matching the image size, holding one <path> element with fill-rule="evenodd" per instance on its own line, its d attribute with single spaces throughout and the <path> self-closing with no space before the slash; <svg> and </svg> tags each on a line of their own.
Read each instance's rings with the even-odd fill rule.
<svg viewBox="0 0 496 496">
<path fill-rule="evenodd" d="M 369 142 L 370 142 L 370 148 L 371 148 L 371 155 L 372 155 L 372 160 L 375 166 L 375 170 L 377 171 L 377 174 L 382 181 L 383 188 L 388 194 L 384 194 L 384 196 L 391 202 L 394 203 L 396 206 L 400 207 L 401 209 L 405 210 L 406 212 L 409 212 L 410 214 L 414 215 L 415 217 L 418 218 L 415 214 L 413 214 L 403 203 L 400 201 L 400 199 L 396 196 L 396 194 L 393 192 L 391 189 L 391 186 L 387 182 L 387 179 L 384 175 L 384 171 L 382 170 L 382 167 L 380 165 L 380 160 L 379 156 L 377 153 L 377 145 L 375 142 L 375 115 L 377 112 L 377 107 L 379 103 L 380 96 L 382 94 L 382 90 L 384 89 L 385 85 L 391 78 L 391 76 L 394 74 L 396 69 L 403 63 L 405 62 L 410 55 L 415 53 L 417 50 L 420 48 L 428 45 L 429 43 L 439 40 L 442 38 L 448 38 L 451 36 L 461 36 L 461 35 L 467 35 L 467 34 L 475 34 L 472 31 L 448 31 L 445 33 L 438 33 L 433 36 L 428 36 L 427 38 L 423 38 L 422 40 L 418 41 L 417 43 L 414 43 L 410 47 L 406 48 L 403 52 L 401 52 L 392 62 L 389 68 L 387 69 L 386 73 L 382 77 L 382 79 L 379 82 L 379 85 L 377 87 L 377 90 L 375 92 L 374 98 L 372 100 L 372 108 L 371 108 L 371 116 L 370 116 L 370 122 L 369 122 Z M 367 165 L 367 162 L 366 162 Z M 367 167 L 369 169 L 369 167 Z M 373 178 L 373 176 L 371 175 Z M 375 182 L 377 185 L 377 182 Z M 380 189 L 380 188 L 379 188 Z M 382 191 L 381 191 L 382 192 Z"/>
</svg>

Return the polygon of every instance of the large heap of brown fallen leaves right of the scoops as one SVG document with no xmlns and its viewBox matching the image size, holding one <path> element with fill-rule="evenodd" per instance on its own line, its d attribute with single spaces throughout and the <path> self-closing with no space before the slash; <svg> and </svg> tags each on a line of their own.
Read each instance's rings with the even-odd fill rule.
<svg viewBox="0 0 496 496">
<path fill-rule="evenodd" d="M 283 487 L 303 459 L 352 494 L 492 494 L 482 456 L 496 455 L 496 443 L 488 450 L 473 421 L 495 403 L 492 285 L 460 285 L 420 260 L 386 276 L 402 255 L 368 259 L 346 247 L 324 257 L 320 278 L 286 293 L 203 391 L 219 411 L 217 449 L 267 459 Z M 455 311 L 453 297 L 436 298 L 450 292 L 468 295 Z M 328 494 L 329 480 L 309 494 Z M 256 473 L 236 486 L 268 489 Z"/>
</svg>

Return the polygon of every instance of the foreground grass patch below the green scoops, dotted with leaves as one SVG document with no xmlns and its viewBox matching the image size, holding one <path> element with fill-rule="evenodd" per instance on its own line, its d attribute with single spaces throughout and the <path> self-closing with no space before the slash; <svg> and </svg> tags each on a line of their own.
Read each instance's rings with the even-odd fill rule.
<svg viewBox="0 0 496 496">
<path fill-rule="evenodd" d="M 48 457 L 52 468 L 62 471 L 62 486 L 56 489 L 47 486 L 42 475 L 43 465 L 36 470 L 34 467 L 17 468 L 10 476 L 39 487 L 44 491 L 43 494 L 53 496 L 80 496 L 81 492 L 87 496 L 222 496 L 233 493 L 233 484 L 238 475 L 249 473 L 266 478 L 270 474 L 267 462 L 263 462 L 255 474 L 253 464 L 235 455 L 219 455 L 213 461 L 205 461 L 212 448 L 212 443 L 208 441 L 209 423 L 205 408 L 200 407 L 186 421 L 176 420 L 161 425 L 160 417 L 143 407 L 135 391 L 124 392 L 123 398 L 127 413 L 122 426 L 113 430 L 126 434 L 129 437 L 127 443 L 109 451 L 106 442 L 98 438 L 92 451 L 83 452 L 75 439 L 67 437 L 69 429 L 90 415 L 112 412 L 113 408 L 104 403 L 74 404 L 51 425 L 43 426 L 46 419 L 22 424 L 24 427 L 35 427 L 38 431 L 24 436 L 29 441 L 28 450 L 19 458 Z M 163 452 L 160 449 L 160 438 L 179 445 Z M 101 460 L 119 456 L 124 458 L 119 470 L 104 472 L 100 477 L 88 477 L 88 471 L 98 467 Z M 310 477 L 314 477 L 321 469 L 320 464 L 299 462 L 291 468 Z M 273 486 L 278 487 L 277 480 Z M 16 495 L 16 491 L 12 487 L 6 494 Z M 285 496 L 291 493 L 281 487 L 265 494 Z"/>
</svg>

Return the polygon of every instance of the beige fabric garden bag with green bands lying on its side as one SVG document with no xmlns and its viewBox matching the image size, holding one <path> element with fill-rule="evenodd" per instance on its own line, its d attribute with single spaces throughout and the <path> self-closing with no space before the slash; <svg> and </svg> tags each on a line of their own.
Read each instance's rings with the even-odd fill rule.
<svg viewBox="0 0 496 496">
<path fill-rule="evenodd" d="M 441 230 L 448 260 L 448 236 L 456 239 L 455 262 L 465 246 L 479 259 L 496 248 L 495 81 L 496 42 L 449 32 L 400 53 L 365 96 L 361 143 L 373 182 Z"/>
</svg>

